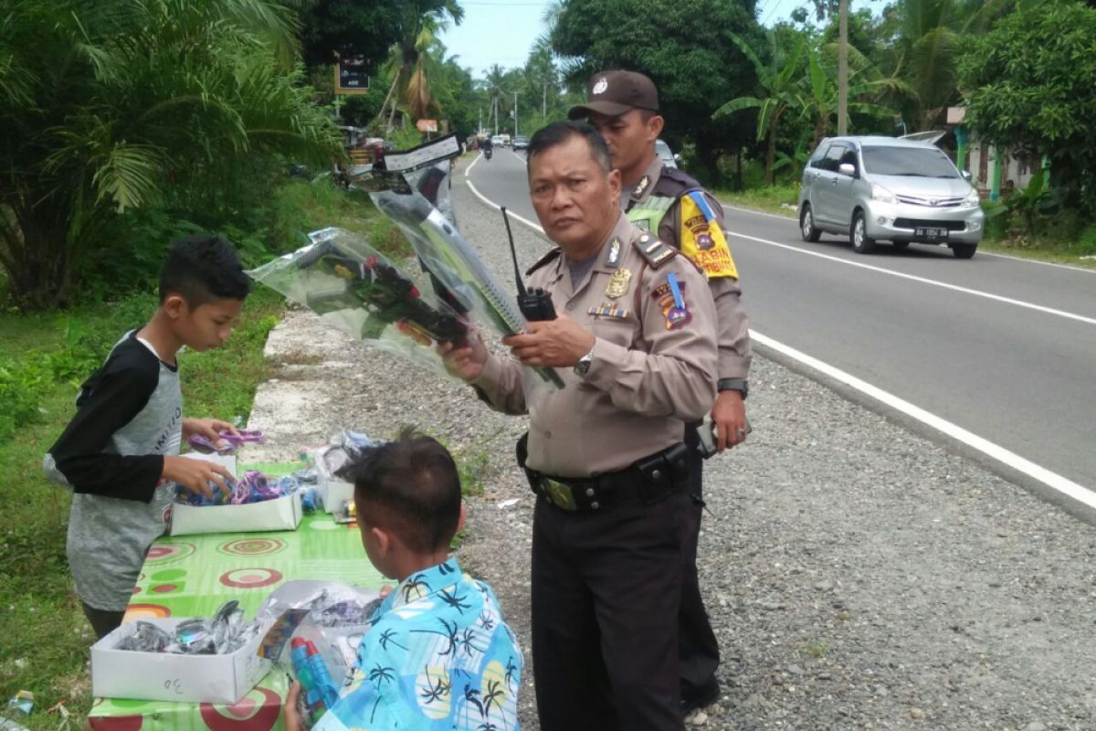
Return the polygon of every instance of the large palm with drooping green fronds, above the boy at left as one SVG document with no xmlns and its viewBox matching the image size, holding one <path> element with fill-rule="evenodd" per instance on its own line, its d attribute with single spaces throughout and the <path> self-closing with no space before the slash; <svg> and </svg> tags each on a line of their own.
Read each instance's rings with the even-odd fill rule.
<svg viewBox="0 0 1096 731">
<path fill-rule="evenodd" d="M 171 178 L 340 152 L 277 0 L 8 0 L 0 19 L 0 265 L 24 307 L 64 302 L 116 212 Z"/>
</svg>

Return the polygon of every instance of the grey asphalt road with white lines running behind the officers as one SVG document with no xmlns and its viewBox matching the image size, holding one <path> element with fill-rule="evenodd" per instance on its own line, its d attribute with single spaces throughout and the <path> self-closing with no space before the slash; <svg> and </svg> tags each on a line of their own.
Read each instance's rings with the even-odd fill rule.
<svg viewBox="0 0 1096 731">
<path fill-rule="evenodd" d="M 524 156 L 500 149 L 465 181 L 536 221 Z M 1096 506 L 1096 272 L 916 245 L 865 256 L 743 209 L 728 209 L 728 227 L 758 341 L 881 389 L 884 409 L 945 420 L 924 429 Z"/>
</svg>

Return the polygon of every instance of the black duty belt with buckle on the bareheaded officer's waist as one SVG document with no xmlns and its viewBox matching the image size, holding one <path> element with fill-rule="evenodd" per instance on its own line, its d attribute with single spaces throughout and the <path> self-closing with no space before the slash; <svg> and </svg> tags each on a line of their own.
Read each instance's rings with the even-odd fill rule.
<svg viewBox="0 0 1096 731">
<path fill-rule="evenodd" d="M 681 443 L 614 472 L 556 477 L 525 466 L 527 441 L 528 434 L 517 441 L 517 464 L 525 470 L 533 492 L 560 510 L 596 511 L 635 501 L 651 504 L 687 488 L 688 448 Z"/>
</svg>

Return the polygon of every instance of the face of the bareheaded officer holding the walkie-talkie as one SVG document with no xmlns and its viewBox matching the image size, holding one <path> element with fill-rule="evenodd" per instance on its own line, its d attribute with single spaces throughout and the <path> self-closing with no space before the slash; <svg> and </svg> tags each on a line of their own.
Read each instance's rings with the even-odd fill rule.
<svg viewBox="0 0 1096 731">
<path fill-rule="evenodd" d="M 596 252 L 620 215 L 619 171 L 605 172 L 578 136 L 529 160 L 529 193 L 545 233 L 569 256 Z"/>
</svg>

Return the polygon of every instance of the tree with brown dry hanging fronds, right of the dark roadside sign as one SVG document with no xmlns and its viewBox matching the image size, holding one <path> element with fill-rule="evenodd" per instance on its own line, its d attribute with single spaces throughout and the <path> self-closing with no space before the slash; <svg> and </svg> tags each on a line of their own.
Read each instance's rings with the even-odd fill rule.
<svg viewBox="0 0 1096 731">
<path fill-rule="evenodd" d="M 452 20 L 459 25 L 465 11 L 457 0 L 413 0 L 403 4 L 401 38 L 392 46 L 392 83 L 385 96 L 385 103 L 377 114 L 377 122 L 385 118 L 385 130 L 391 132 L 396 107 L 400 101 L 408 105 L 416 117 L 427 116 L 434 106 L 427 73 L 427 50 L 437 39 L 438 33 Z"/>
</svg>

